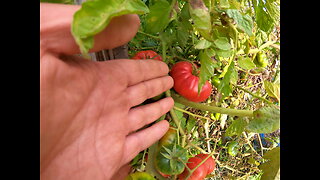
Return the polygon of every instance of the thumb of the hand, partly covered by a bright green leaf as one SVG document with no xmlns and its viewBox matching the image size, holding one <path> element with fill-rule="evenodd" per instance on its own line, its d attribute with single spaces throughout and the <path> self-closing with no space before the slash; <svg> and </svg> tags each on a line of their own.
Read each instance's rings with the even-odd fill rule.
<svg viewBox="0 0 320 180">
<path fill-rule="evenodd" d="M 40 48 L 59 54 L 78 54 L 80 49 L 71 34 L 73 14 L 79 5 L 40 3 Z M 115 17 L 105 30 L 94 37 L 90 52 L 112 49 L 130 41 L 138 31 L 140 19 L 135 14 Z"/>
</svg>

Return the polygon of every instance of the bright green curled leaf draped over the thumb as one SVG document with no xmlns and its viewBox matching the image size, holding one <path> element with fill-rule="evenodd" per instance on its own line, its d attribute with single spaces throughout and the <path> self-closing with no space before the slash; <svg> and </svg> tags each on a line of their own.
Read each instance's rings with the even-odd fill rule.
<svg viewBox="0 0 320 180">
<path fill-rule="evenodd" d="M 86 1 L 73 16 L 71 32 L 81 53 L 86 54 L 93 47 L 94 35 L 105 29 L 112 18 L 147 12 L 149 9 L 141 0 Z"/>
</svg>

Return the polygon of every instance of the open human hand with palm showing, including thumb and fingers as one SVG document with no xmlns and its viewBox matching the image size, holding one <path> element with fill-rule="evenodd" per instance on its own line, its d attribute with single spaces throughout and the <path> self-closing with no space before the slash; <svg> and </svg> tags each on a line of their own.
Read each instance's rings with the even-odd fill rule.
<svg viewBox="0 0 320 180">
<path fill-rule="evenodd" d="M 168 130 L 171 97 L 137 106 L 173 86 L 156 60 L 83 59 L 71 35 L 76 5 L 40 3 L 40 176 L 45 180 L 124 179 L 128 163 Z M 130 41 L 137 15 L 114 18 L 91 52 Z"/>
</svg>

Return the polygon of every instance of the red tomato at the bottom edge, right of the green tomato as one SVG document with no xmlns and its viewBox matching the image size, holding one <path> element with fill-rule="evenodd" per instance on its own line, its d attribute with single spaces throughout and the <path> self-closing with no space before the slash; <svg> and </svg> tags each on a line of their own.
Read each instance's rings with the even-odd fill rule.
<svg viewBox="0 0 320 180">
<path fill-rule="evenodd" d="M 188 160 L 187 166 L 190 168 L 190 170 L 194 169 L 199 163 L 201 163 L 202 159 L 199 157 L 192 157 Z M 207 176 L 207 166 L 205 163 L 201 164 L 200 167 L 198 167 L 188 178 L 188 180 L 202 180 Z M 187 168 L 178 176 L 179 180 L 185 180 L 189 175 L 189 171 Z"/>
</svg>

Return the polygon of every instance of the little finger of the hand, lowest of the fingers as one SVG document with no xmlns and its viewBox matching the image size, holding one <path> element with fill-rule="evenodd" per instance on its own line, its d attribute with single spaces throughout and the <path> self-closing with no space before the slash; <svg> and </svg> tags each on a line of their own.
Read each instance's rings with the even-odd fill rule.
<svg viewBox="0 0 320 180">
<path fill-rule="evenodd" d="M 158 141 L 169 129 L 168 121 L 160 121 L 153 126 L 127 136 L 123 163 L 130 162 L 140 151 Z"/>
</svg>

